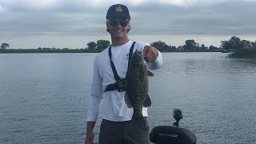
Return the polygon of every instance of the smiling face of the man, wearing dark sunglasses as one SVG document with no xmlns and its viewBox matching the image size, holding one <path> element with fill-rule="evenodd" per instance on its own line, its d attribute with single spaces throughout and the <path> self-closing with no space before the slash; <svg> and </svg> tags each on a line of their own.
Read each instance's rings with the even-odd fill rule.
<svg viewBox="0 0 256 144">
<path fill-rule="evenodd" d="M 110 18 L 106 21 L 106 27 L 112 38 L 124 38 L 130 29 L 130 22 L 127 18 Z"/>
</svg>

